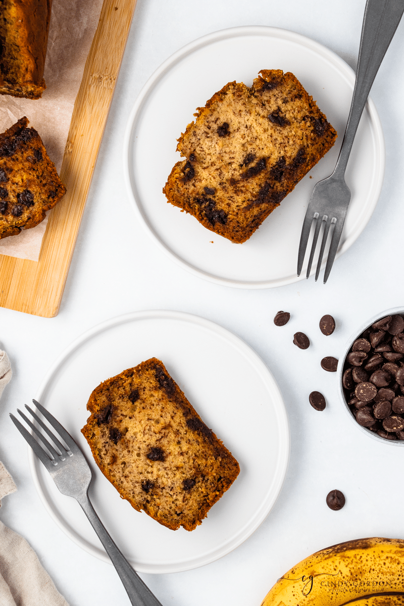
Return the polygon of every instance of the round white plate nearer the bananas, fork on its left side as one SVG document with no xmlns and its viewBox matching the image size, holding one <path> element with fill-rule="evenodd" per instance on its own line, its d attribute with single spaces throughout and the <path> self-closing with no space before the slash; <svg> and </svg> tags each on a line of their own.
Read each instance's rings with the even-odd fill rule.
<svg viewBox="0 0 404 606">
<path fill-rule="evenodd" d="M 91 391 L 125 368 L 156 356 L 202 419 L 240 464 L 230 489 L 192 532 L 168 530 L 137 512 L 93 461 L 81 428 Z M 142 311 L 104 322 L 73 342 L 36 395 L 78 442 L 95 479 L 90 498 L 105 527 L 141 572 L 196 568 L 247 539 L 267 517 L 288 466 L 289 425 L 268 368 L 238 337 L 208 320 L 177 311 Z M 59 527 L 88 552 L 108 561 L 78 503 L 59 493 L 28 447 L 33 479 Z"/>
</svg>

